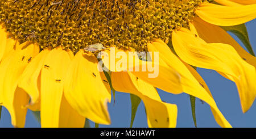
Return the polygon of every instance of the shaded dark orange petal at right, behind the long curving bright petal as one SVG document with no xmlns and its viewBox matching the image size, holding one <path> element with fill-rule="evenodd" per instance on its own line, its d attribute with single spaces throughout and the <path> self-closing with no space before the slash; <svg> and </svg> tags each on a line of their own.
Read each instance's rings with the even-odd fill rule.
<svg viewBox="0 0 256 139">
<path fill-rule="evenodd" d="M 233 39 L 225 30 L 221 27 L 215 26 L 204 22 L 200 18 L 193 19 L 193 27 L 196 28 L 197 33 L 200 38 L 206 41 L 207 43 L 224 43 L 232 45 L 236 49 L 237 53 L 249 64 L 253 65 L 256 68 L 256 57 L 252 56 L 250 53 L 246 52 L 245 49 Z"/>
</svg>

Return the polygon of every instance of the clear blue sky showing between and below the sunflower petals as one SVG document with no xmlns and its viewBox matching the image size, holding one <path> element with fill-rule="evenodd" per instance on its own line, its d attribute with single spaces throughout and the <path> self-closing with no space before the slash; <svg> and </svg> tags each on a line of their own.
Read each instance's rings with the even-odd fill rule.
<svg viewBox="0 0 256 139">
<path fill-rule="evenodd" d="M 253 45 L 254 52 L 256 52 L 256 19 L 246 23 L 246 27 L 251 45 Z M 243 46 L 236 36 L 232 36 Z M 242 113 L 240 98 L 234 82 L 229 81 L 213 70 L 197 69 L 197 71 L 207 83 L 218 108 L 233 127 L 256 127 L 256 104 L 254 103 L 248 112 Z M 177 127 L 195 127 L 191 114 L 189 95 L 184 93 L 174 95 L 162 90 L 158 91 L 162 100 L 177 105 Z M 115 104 L 113 100 L 109 104 L 112 124 L 100 125 L 100 127 L 130 127 L 130 94 L 116 92 L 115 98 Z M 202 104 L 199 99 L 196 99 L 196 120 L 197 127 L 220 127 L 214 120 L 209 105 L 207 103 Z M 94 127 L 93 122 L 90 122 L 90 125 Z M 13 127 L 11 125 L 10 114 L 6 108 L 2 109 L 0 127 Z M 27 113 L 25 127 L 40 127 L 40 124 L 36 121 L 31 111 Z M 147 127 L 143 102 L 138 107 L 133 127 Z"/>
</svg>

